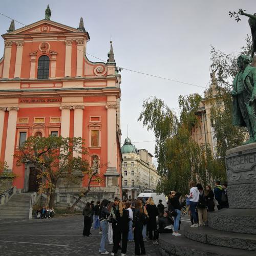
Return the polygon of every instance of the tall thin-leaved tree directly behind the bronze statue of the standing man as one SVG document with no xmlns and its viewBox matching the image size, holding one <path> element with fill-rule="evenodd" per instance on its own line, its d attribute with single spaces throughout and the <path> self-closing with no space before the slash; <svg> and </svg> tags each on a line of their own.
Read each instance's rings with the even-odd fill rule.
<svg viewBox="0 0 256 256">
<path fill-rule="evenodd" d="M 251 37 L 245 38 L 245 46 L 240 52 L 225 54 L 216 48 L 211 47 L 212 70 L 211 78 L 214 87 L 209 90 L 207 96 L 211 101 L 210 116 L 215 130 L 215 141 L 217 142 L 216 156 L 225 165 L 225 154 L 230 148 L 243 144 L 248 133 L 245 127 L 232 125 L 232 82 L 238 73 L 237 58 L 239 55 L 250 56 Z M 213 90 L 212 90 L 213 89 Z"/>
</svg>

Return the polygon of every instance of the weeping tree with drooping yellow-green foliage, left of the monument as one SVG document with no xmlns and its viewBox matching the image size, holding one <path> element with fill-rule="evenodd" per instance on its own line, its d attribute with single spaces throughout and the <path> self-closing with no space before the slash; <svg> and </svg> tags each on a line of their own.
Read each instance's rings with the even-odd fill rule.
<svg viewBox="0 0 256 256">
<path fill-rule="evenodd" d="M 200 146 L 191 138 L 191 130 L 200 122 L 195 115 L 200 102 L 199 94 L 180 96 L 180 115 L 156 97 L 143 102 L 138 120 L 156 137 L 155 155 L 161 177 L 157 185 L 159 193 L 176 190 L 186 194 L 190 179 L 206 185 L 212 179 L 222 178 L 223 170 L 212 157 L 210 146 Z"/>
</svg>

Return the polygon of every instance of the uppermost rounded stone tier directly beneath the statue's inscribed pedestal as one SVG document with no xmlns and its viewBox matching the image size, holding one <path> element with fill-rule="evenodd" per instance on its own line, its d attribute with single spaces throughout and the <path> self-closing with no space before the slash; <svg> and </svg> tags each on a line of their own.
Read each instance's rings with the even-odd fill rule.
<svg viewBox="0 0 256 256">
<path fill-rule="evenodd" d="M 256 209 L 225 208 L 208 212 L 208 225 L 222 231 L 256 234 Z"/>
</svg>

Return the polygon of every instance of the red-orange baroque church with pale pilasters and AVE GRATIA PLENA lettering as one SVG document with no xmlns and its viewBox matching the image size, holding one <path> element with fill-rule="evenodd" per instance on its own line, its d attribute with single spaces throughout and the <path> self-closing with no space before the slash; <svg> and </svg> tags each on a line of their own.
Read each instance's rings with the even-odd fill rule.
<svg viewBox="0 0 256 256">
<path fill-rule="evenodd" d="M 12 20 L 2 35 L 0 160 L 17 176 L 12 182 L 17 191 L 36 191 L 33 165 L 16 167 L 19 144 L 29 136 L 81 137 L 89 151 L 83 157 L 90 164 L 98 159 L 103 179 L 100 184 L 92 181 L 88 197 L 112 199 L 122 194 L 121 76 L 112 42 L 107 62 L 90 61 L 89 33 L 82 18 L 77 23 L 78 28 L 72 28 L 46 17 L 15 30 Z M 75 194 L 87 185 L 87 177 L 79 184 L 60 179 L 56 193 Z"/>
</svg>

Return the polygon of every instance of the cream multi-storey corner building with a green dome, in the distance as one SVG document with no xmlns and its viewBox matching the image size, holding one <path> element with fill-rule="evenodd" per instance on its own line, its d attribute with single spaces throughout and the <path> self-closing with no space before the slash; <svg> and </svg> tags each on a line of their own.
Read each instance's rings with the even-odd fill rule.
<svg viewBox="0 0 256 256">
<path fill-rule="evenodd" d="M 122 190 L 124 196 L 136 198 L 144 190 L 156 189 L 159 179 L 157 169 L 152 162 L 153 155 L 147 150 L 137 150 L 127 137 L 121 147 Z"/>
</svg>

